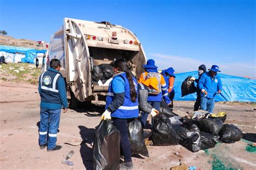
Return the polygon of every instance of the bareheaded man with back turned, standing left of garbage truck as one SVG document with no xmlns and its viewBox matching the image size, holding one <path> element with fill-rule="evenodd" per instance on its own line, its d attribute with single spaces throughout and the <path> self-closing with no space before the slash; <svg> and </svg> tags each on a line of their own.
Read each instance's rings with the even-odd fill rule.
<svg viewBox="0 0 256 170">
<path fill-rule="evenodd" d="M 68 110 L 66 85 L 62 74 L 59 72 L 60 67 L 59 60 L 52 59 L 50 68 L 43 72 L 39 78 L 38 91 L 41 96 L 39 146 L 41 149 L 47 146 L 48 152 L 62 148 L 61 145 L 56 145 L 57 129 L 61 109 L 64 109 L 64 113 Z"/>
</svg>

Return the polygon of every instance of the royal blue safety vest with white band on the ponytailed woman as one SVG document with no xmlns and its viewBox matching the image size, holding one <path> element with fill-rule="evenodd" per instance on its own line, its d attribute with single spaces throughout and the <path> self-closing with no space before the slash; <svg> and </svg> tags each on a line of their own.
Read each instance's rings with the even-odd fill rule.
<svg viewBox="0 0 256 170">
<path fill-rule="evenodd" d="M 111 113 L 111 117 L 116 117 L 116 118 L 136 118 L 139 115 L 139 107 L 138 107 L 138 95 L 136 101 L 133 103 L 130 100 L 130 84 L 128 79 L 126 78 L 125 73 L 120 73 L 117 76 L 113 78 L 117 78 L 118 76 L 122 77 L 125 80 L 125 95 L 124 95 L 124 104 L 120 106 L 116 111 Z M 133 78 L 133 84 L 135 86 L 136 92 L 138 93 L 138 84 L 137 81 L 134 77 Z M 113 101 L 114 99 L 114 94 L 113 94 L 113 89 L 112 89 L 112 83 L 113 80 L 111 81 L 109 85 L 109 90 L 107 91 L 107 97 L 106 97 L 106 106 L 107 108 Z"/>
</svg>

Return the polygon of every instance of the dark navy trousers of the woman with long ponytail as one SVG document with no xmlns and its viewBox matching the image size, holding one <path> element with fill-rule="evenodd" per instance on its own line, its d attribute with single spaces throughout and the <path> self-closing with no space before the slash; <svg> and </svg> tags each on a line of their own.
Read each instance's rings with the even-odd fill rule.
<svg viewBox="0 0 256 170">
<path fill-rule="evenodd" d="M 114 126 L 116 126 L 117 130 L 120 132 L 120 146 L 124 154 L 124 161 L 131 162 L 132 151 L 131 151 L 128 131 L 127 131 L 128 119 L 113 118 L 113 123 L 114 123 Z"/>
</svg>

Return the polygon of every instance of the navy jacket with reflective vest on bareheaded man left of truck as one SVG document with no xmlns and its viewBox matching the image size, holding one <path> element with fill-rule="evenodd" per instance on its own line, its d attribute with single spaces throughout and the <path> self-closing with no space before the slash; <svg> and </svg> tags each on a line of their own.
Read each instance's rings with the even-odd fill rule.
<svg viewBox="0 0 256 170">
<path fill-rule="evenodd" d="M 68 108 L 66 87 L 62 74 L 49 68 L 39 77 L 38 91 L 41 96 L 41 108 L 60 109 Z"/>
</svg>

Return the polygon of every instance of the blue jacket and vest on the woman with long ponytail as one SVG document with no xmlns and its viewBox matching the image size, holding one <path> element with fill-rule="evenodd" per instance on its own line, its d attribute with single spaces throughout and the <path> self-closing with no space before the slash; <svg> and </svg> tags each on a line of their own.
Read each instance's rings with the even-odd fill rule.
<svg viewBox="0 0 256 170">
<path fill-rule="evenodd" d="M 123 80 L 122 80 L 123 79 Z M 138 93 L 136 79 L 133 77 L 133 84 Z M 123 91 L 123 92 L 122 92 Z M 123 104 L 120 103 L 118 94 L 124 93 Z M 119 106 L 117 103 L 120 103 Z M 111 117 L 116 118 L 136 118 L 139 115 L 138 107 L 138 95 L 136 101 L 133 103 L 130 100 L 130 84 L 126 78 L 126 74 L 121 72 L 113 77 L 109 85 L 109 90 L 106 97 L 106 106 L 105 109 L 111 111 Z"/>
</svg>

